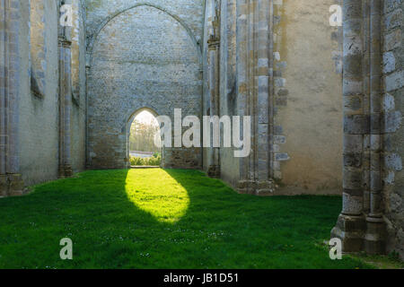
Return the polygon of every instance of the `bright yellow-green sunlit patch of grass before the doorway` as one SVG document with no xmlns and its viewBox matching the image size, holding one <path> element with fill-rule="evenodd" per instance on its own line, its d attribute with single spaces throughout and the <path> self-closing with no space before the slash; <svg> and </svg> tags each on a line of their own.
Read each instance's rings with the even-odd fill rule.
<svg viewBox="0 0 404 287">
<path fill-rule="evenodd" d="M 129 170 L 125 189 L 131 202 L 159 222 L 178 222 L 189 207 L 187 190 L 164 170 Z"/>
</svg>

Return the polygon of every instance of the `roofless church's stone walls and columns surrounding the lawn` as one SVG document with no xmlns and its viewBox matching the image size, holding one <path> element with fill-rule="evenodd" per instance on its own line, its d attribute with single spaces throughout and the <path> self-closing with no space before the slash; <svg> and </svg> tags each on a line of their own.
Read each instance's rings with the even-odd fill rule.
<svg viewBox="0 0 404 287">
<path fill-rule="evenodd" d="M 86 170 L 130 169 L 142 110 L 172 123 L 179 109 L 248 116 L 247 156 L 172 144 L 161 168 L 202 170 L 250 196 L 339 196 L 329 239 L 402 260 L 403 10 L 401 0 L 0 0 L 0 206 Z"/>
</svg>

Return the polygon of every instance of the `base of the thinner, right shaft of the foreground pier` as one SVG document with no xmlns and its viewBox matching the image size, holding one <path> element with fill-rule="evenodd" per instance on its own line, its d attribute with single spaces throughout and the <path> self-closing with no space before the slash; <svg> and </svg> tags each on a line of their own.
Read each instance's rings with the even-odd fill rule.
<svg viewBox="0 0 404 287">
<path fill-rule="evenodd" d="M 364 251 L 369 254 L 386 253 L 386 224 L 382 217 L 366 218 L 366 234 L 364 236 Z"/>
</svg>

